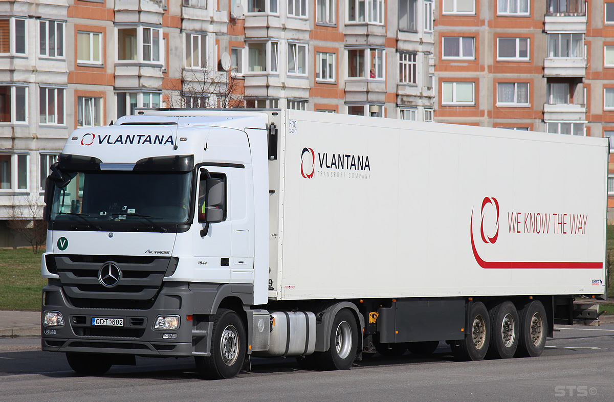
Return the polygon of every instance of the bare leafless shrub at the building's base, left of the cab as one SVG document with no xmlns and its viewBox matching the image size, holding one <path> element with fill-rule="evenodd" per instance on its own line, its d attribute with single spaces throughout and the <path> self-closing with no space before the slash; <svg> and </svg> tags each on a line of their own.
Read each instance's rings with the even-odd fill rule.
<svg viewBox="0 0 614 402">
<path fill-rule="evenodd" d="M 47 241 L 47 222 L 41 218 L 43 205 L 36 196 L 20 197 L 14 199 L 12 204 L 7 225 L 25 239 L 32 246 L 34 254 L 37 254 Z"/>
</svg>

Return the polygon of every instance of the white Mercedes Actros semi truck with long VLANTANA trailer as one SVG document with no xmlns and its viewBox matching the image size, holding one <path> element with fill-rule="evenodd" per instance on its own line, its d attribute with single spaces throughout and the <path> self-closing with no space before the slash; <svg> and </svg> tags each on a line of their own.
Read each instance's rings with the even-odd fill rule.
<svg viewBox="0 0 614 402">
<path fill-rule="evenodd" d="M 606 293 L 608 142 L 284 109 L 136 109 L 50 168 L 42 350 L 534 357 Z"/>
</svg>

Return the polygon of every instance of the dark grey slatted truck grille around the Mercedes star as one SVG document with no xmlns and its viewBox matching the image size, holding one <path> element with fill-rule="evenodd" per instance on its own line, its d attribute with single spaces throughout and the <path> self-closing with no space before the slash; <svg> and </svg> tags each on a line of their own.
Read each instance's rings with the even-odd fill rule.
<svg viewBox="0 0 614 402">
<path fill-rule="evenodd" d="M 147 307 L 160 289 L 165 276 L 177 268 L 176 257 L 140 257 L 125 255 L 55 255 L 58 276 L 71 303 L 76 307 L 126 308 L 130 300 L 131 309 L 136 302 Z M 104 285 L 101 277 L 103 267 L 114 265 L 119 268 L 110 282 Z M 109 281 L 107 281 L 109 282 Z M 143 306 L 140 306 L 144 304 Z M 136 308 L 139 308 L 136 307 Z"/>
</svg>

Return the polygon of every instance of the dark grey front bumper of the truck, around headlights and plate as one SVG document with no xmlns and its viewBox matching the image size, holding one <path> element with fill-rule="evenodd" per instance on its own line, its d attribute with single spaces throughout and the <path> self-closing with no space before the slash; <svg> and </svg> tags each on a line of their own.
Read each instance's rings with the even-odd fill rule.
<svg viewBox="0 0 614 402">
<path fill-rule="evenodd" d="M 193 355 L 192 292 L 187 283 L 166 282 L 155 301 L 147 309 L 131 309 L 131 301 L 123 308 L 76 307 L 59 284 L 43 288 L 42 311 L 58 311 L 64 318 L 63 327 L 42 325 L 41 347 L 49 352 L 88 352 L 129 354 L 149 357 L 188 357 Z M 158 315 L 179 315 L 176 330 L 153 330 Z M 123 327 L 92 325 L 93 318 L 123 319 Z M 47 334 L 45 330 L 55 330 Z M 163 339 L 163 334 L 177 334 Z"/>
</svg>

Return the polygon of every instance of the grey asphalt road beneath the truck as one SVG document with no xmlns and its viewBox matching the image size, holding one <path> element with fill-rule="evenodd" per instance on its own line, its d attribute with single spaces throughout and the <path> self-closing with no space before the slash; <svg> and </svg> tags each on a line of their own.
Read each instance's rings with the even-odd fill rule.
<svg viewBox="0 0 614 402">
<path fill-rule="evenodd" d="M 614 400 L 614 324 L 556 328 L 537 358 L 456 362 L 441 342 L 432 358 L 375 355 L 347 371 L 252 359 L 224 381 L 198 379 L 188 358 L 80 377 L 39 338 L 0 338 L 0 400 Z"/>
</svg>

